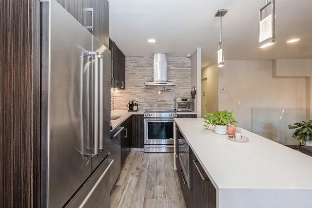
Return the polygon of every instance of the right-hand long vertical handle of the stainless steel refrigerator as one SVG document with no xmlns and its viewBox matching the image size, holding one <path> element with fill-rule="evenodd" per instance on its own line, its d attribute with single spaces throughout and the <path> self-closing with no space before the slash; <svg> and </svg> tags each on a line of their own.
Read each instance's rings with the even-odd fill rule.
<svg viewBox="0 0 312 208">
<path fill-rule="evenodd" d="M 103 56 L 98 55 L 99 59 L 99 141 L 98 151 L 103 151 Z"/>
</svg>

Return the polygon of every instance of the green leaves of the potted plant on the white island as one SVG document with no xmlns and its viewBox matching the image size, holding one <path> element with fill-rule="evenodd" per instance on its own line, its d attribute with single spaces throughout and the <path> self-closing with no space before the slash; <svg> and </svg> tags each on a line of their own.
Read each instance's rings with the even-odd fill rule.
<svg viewBox="0 0 312 208">
<path fill-rule="evenodd" d="M 205 124 L 204 126 L 208 129 L 209 125 L 234 125 L 237 124 L 235 120 L 235 115 L 233 112 L 228 112 L 227 110 L 215 111 L 215 113 L 206 113 L 204 116 Z"/>
</svg>

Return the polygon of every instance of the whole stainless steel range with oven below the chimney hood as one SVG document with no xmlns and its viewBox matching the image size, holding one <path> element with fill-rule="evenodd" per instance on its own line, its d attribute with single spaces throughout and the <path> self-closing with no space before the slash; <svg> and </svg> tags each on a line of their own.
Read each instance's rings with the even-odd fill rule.
<svg viewBox="0 0 312 208">
<path fill-rule="evenodd" d="M 174 151 L 175 110 L 146 110 L 144 113 L 144 151 Z"/>
</svg>

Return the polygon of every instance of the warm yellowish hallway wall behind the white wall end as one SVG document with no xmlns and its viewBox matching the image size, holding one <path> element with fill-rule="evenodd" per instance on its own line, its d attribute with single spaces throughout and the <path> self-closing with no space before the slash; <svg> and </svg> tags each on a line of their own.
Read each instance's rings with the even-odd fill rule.
<svg viewBox="0 0 312 208">
<path fill-rule="evenodd" d="M 201 71 L 201 78 L 207 78 L 206 98 L 208 113 L 213 113 L 218 110 L 218 76 L 218 66 L 216 63 L 207 66 Z"/>
</svg>

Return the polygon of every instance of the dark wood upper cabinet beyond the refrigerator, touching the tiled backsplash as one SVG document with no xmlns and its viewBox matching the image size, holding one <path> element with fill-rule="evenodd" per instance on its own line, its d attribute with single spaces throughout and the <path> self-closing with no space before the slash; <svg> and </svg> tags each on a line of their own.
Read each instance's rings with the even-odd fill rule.
<svg viewBox="0 0 312 208">
<path fill-rule="evenodd" d="M 111 41 L 112 52 L 112 87 L 126 88 L 126 57 L 114 41 Z"/>
</svg>

